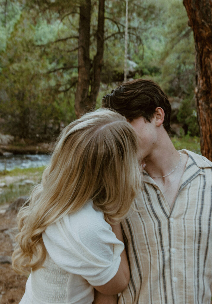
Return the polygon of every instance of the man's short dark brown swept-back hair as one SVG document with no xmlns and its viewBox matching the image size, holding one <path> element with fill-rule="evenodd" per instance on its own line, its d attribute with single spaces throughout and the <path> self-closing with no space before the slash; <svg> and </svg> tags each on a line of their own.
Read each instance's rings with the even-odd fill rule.
<svg viewBox="0 0 212 304">
<path fill-rule="evenodd" d="M 102 107 L 114 109 L 129 121 L 144 117 L 151 122 L 157 107 L 164 110 L 163 126 L 170 133 L 171 105 L 167 95 L 154 81 L 136 79 L 119 85 L 102 98 Z"/>
</svg>

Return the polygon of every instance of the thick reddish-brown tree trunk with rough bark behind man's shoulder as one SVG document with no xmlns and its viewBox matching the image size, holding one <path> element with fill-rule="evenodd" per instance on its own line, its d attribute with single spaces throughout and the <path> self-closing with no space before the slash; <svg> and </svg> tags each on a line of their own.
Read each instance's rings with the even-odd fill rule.
<svg viewBox="0 0 212 304">
<path fill-rule="evenodd" d="M 202 155 L 212 161 L 212 2 L 183 0 L 196 49 L 196 103 Z"/>
</svg>

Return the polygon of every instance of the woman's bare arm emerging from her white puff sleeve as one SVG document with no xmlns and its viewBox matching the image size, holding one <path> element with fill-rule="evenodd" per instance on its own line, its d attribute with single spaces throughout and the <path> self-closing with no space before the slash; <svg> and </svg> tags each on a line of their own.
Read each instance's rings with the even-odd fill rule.
<svg viewBox="0 0 212 304">
<path fill-rule="evenodd" d="M 121 225 L 111 225 L 112 231 L 115 233 L 118 240 L 124 242 Z M 121 263 L 119 265 L 116 275 L 106 284 L 101 286 L 94 286 L 97 291 L 104 295 L 115 295 L 122 292 L 128 285 L 130 278 L 129 265 L 125 249 L 121 253 Z"/>
</svg>

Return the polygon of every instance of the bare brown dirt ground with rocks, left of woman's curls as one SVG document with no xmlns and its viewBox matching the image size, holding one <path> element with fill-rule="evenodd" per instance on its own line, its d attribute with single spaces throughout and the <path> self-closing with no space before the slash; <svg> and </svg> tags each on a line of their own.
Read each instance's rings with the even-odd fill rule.
<svg viewBox="0 0 212 304">
<path fill-rule="evenodd" d="M 18 304 L 25 291 L 27 278 L 15 273 L 10 259 L 17 234 L 15 210 L 5 212 L 0 208 L 0 304 Z"/>
</svg>

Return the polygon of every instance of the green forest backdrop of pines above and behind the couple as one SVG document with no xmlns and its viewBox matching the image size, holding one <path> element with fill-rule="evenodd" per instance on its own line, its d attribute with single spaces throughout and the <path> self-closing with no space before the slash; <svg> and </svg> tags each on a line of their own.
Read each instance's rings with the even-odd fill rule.
<svg viewBox="0 0 212 304">
<path fill-rule="evenodd" d="M 124 80 L 126 2 L 0 2 L 0 133 L 50 142 L 80 106 L 100 107 Z M 128 3 L 127 67 L 128 79 L 152 79 L 169 96 L 173 133 L 199 136 L 195 46 L 182 0 Z"/>
</svg>

